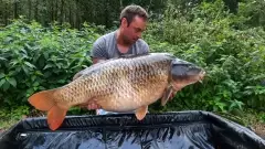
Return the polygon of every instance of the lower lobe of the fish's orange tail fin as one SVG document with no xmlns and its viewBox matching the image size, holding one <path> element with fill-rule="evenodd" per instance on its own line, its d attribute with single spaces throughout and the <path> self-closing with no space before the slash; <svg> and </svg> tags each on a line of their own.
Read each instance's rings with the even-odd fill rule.
<svg viewBox="0 0 265 149">
<path fill-rule="evenodd" d="M 47 125 L 50 129 L 56 130 L 63 123 L 67 109 L 63 109 L 59 106 L 53 106 L 47 111 Z"/>
</svg>

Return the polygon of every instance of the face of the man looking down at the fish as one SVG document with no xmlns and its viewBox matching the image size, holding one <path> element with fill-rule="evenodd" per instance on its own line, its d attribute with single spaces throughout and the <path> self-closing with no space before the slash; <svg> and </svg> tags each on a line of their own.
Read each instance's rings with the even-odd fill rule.
<svg viewBox="0 0 265 149">
<path fill-rule="evenodd" d="M 121 22 L 124 40 L 129 44 L 135 43 L 138 39 L 141 38 L 141 33 L 146 30 L 146 20 L 138 15 L 132 19 L 129 25 L 127 20 L 124 19 Z"/>
</svg>

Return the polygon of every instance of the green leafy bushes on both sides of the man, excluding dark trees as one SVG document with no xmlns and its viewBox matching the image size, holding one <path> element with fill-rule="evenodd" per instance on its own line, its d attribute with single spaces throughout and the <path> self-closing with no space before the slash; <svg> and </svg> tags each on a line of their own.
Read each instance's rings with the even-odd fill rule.
<svg viewBox="0 0 265 149">
<path fill-rule="evenodd" d="M 259 15 L 263 10 L 242 2 L 234 14 L 223 6 L 222 0 L 192 6 L 169 0 L 165 12 L 152 17 L 144 34 L 151 51 L 170 52 L 193 62 L 206 71 L 206 76 L 202 84 L 178 92 L 166 107 L 159 102 L 151 105 L 150 111 L 202 109 L 243 116 L 247 107 L 265 110 L 265 31 Z M 256 15 L 259 22 L 253 25 Z M 72 81 L 75 73 L 92 64 L 86 53 L 93 42 L 109 31 L 87 23 L 81 30 L 56 22 L 43 28 L 23 19 L 0 30 L 3 107 L 26 106 L 33 93 Z M 84 113 L 88 111 L 73 108 L 68 114 Z M 265 119 L 264 115 L 259 117 Z"/>
</svg>

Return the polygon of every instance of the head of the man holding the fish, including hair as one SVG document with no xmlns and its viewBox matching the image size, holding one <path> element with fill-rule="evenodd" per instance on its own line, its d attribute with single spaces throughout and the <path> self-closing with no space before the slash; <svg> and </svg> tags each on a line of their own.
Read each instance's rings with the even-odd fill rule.
<svg viewBox="0 0 265 149">
<path fill-rule="evenodd" d="M 126 43 L 132 44 L 146 30 L 148 13 L 139 6 L 128 6 L 120 13 L 120 34 Z"/>
</svg>

